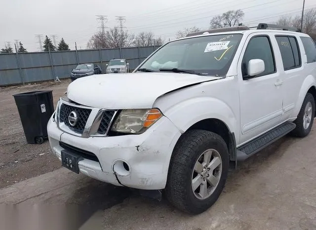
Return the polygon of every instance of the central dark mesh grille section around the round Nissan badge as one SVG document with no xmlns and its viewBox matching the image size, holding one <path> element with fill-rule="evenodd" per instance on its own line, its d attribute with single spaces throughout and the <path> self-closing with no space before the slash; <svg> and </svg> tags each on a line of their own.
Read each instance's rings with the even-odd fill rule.
<svg viewBox="0 0 316 230">
<path fill-rule="evenodd" d="M 78 121 L 75 126 L 71 126 L 68 121 L 68 116 L 72 111 L 74 111 L 78 116 Z M 83 109 L 79 107 L 62 104 L 60 106 L 59 121 L 64 122 L 74 132 L 82 134 L 90 113 L 90 109 Z"/>
</svg>

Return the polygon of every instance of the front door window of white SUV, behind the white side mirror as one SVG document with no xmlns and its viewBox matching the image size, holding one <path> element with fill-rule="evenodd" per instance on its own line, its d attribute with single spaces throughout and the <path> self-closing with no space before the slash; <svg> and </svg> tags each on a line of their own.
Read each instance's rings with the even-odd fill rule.
<svg viewBox="0 0 316 230">
<path fill-rule="evenodd" d="M 261 59 L 265 63 L 265 71 L 259 76 L 276 72 L 275 59 L 269 37 L 258 36 L 250 39 L 241 63 L 242 77 L 248 76 L 248 63 L 251 59 Z"/>
</svg>

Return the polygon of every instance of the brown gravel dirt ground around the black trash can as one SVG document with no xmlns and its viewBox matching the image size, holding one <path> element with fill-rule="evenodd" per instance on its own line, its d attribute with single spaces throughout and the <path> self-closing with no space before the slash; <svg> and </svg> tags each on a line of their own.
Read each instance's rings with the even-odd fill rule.
<svg viewBox="0 0 316 230">
<path fill-rule="evenodd" d="M 60 83 L 42 82 L 0 88 L 0 188 L 61 167 L 60 161 L 50 154 L 47 140 L 42 145 L 27 144 L 12 95 L 53 90 L 55 108 L 70 82 L 67 79 Z"/>
</svg>

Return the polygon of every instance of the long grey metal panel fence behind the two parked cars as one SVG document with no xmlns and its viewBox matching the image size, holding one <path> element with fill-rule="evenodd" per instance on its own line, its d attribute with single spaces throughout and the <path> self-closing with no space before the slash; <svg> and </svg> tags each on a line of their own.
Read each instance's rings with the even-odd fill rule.
<svg viewBox="0 0 316 230">
<path fill-rule="evenodd" d="M 0 54 L 0 86 L 70 77 L 78 64 L 95 63 L 106 72 L 111 59 L 123 58 L 134 70 L 159 46 Z"/>
</svg>

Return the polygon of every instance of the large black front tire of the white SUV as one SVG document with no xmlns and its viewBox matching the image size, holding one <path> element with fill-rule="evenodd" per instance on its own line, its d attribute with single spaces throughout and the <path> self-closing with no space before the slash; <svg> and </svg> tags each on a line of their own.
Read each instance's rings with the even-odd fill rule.
<svg viewBox="0 0 316 230">
<path fill-rule="evenodd" d="M 210 153 L 209 151 L 212 152 Z M 203 172 L 199 174 L 195 171 L 196 163 L 197 161 L 203 161 L 201 163 L 203 166 L 205 161 L 204 156 L 208 153 L 211 154 L 211 163 L 216 163 L 218 162 L 218 159 L 220 159 L 221 165 L 219 165 L 214 171 L 205 171 L 204 168 Z M 201 158 L 202 156 L 203 159 Z M 191 130 L 182 136 L 173 151 L 165 191 L 167 199 L 172 205 L 184 212 L 190 214 L 202 213 L 211 207 L 220 196 L 225 186 L 228 169 L 229 152 L 223 138 L 209 131 Z M 205 174 L 203 174 L 205 172 L 209 175 L 211 175 L 210 172 L 212 172 L 212 176 L 207 177 L 206 175 L 205 178 Z M 209 180 L 215 177 L 217 177 L 217 185 L 211 186 Z M 198 179 L 195 180 L 196 178 Z M 193 191 L 193 182 L 198 181 L 199 183 L 201 180 L 204 182 L 202 182 L 202 184 Z M 208 194 L 208 197 L 202 198 L 200 197 L 200 194 L 203 192 L 202 188 L 205 188 L 205 184 L 203 184 L 205 181 L 206 187 L 209 186 L 207 187 L 207 190 L 212 192 Z"/>
</svg>

